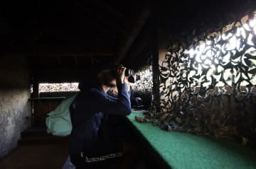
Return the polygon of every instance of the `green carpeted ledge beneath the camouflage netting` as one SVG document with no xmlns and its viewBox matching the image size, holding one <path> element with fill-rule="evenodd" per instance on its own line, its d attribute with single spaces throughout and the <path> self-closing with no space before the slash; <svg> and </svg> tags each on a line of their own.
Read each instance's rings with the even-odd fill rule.
<svg viewBox="0 0 256 169">
<path fill-rule="evenodd" d="M 129 122 L 148 141 L 159 156 L 174 169 L 243 169 L 256 168 L 256 152 L 234 141 L 211 139 L 183 132 L 166 132 L 149 123 L 139 123 L 133 112 Z"/>
</svg>

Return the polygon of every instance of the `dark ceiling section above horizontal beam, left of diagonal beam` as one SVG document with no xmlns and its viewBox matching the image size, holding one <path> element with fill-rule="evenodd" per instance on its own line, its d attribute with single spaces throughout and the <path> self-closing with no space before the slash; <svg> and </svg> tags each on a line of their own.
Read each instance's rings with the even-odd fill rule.
<svg viewBox="0 0 256 169">
<path fill-rule="evenodd" d="M 128 0 L 10 1 L 1 6 L 6 27 L 1 43 L 115 47 L 143 5 Z"/>
</svg>

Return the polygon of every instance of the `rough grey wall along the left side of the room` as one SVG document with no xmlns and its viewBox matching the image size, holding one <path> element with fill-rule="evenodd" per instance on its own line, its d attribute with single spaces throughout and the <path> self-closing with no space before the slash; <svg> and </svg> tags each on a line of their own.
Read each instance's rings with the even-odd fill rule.
<svg viewBox="0 0 256 169">
<path fill-rule="evenodd" d="M 30 75 L 25 57 L 0 57 L 0 158 L 31 126 Z"/>
</svg>

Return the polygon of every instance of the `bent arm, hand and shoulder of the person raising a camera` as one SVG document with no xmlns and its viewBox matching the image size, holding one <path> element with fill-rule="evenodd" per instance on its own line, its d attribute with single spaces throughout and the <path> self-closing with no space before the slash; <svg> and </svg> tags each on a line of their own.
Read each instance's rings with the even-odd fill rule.
<svg viewBox="0 0 256 169">
<path fill-rule="evenodd" d="M 131 101 L 124 84 L 124 71 L 124 67 L 117 69 L 117 99 L 108 97 L 98 88 L 92 88 L 89 93 L 84 93 L 85 97 L 82 97 L 81 94 L 74 113 L 76 115 L 81 114 L 78 121 L 87 119 L 90 115 L 97 112 L 116 115 L 129 115 L 132 112 Z"/>
</svg>

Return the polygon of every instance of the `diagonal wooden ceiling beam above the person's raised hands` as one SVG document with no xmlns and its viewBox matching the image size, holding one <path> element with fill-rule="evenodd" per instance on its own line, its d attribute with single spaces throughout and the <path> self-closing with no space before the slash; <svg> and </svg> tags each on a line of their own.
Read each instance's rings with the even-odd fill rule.
<svg viewBox="0 0 256 169">
<path fill-rule="evenodd" d="M 121 45 L 119 47 L 119 51 L 117 52 L 117 59 L 116 63 L 119 64 L 122 62 L 122 59 L 126 57 L 126 54 L 129 48 L 132 46 L 134 40 L 136 39 L 137 35 L 139 35 L 140 31 L 142 30 L 144 24 L 146 23 L 147 19 L 149 18 L 151 13 L 151 8 L 149 7 L 148 2 L 144 3 L 142 11 L 139 12 L 136 18 L 133 18 L 132 28 L 127 30 L 127 33 L 124 35 L 122 39 Z M 135 21 L 135 22 L 134 22 Z"/>
</svg>

